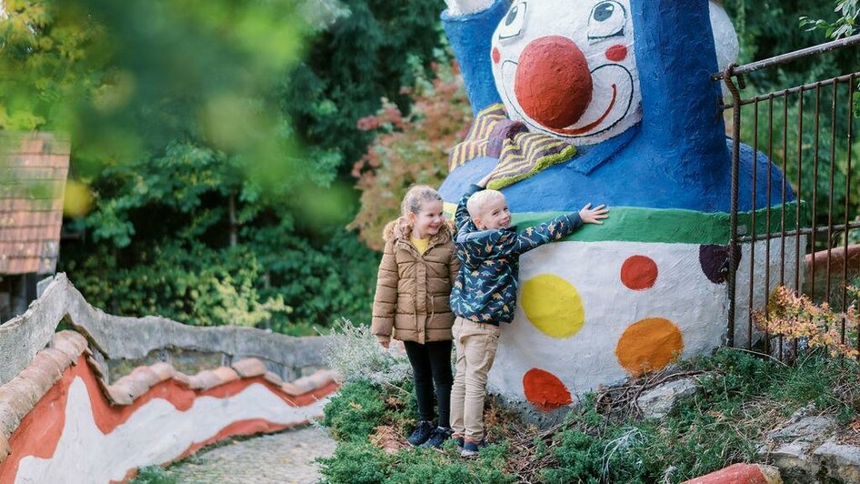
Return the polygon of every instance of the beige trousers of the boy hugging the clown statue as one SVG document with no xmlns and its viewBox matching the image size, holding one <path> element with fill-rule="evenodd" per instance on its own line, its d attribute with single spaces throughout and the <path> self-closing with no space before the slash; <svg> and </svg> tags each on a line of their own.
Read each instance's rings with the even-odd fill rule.
<svg viewBox="0 0 860 484">
<path fill-rule="evenodd" d="M 472 442 L 484 439 L 486 374 L 499 347 L 499 327 L 465 318 L 454 321 L 456 365 L 451 388 L 451 429 Z"/>
</svg>

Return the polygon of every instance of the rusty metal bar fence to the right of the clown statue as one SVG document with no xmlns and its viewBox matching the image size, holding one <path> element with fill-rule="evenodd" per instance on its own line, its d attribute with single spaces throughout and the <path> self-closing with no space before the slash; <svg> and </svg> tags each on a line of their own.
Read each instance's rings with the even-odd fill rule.
<svg viewBox="0 0 860 484">
<path fill-rule="evenodd" d="M 756 310 L 769 316 L 766 303 L 776 287 L 803 294 L 819 306 L 827 303 L 842 314 L 855 302 L 848 287 L 857 284 L 860 273 L 860 187 L 856 187 L 860 159 L 852 160 L 852 148 L 860 148 L 853 137 L 860 122 L 855 119 L 860 111 L 860 71 L 765 94 L 750 93 L 755 88 L 747 85 L 755 83 L 750 75 L 756 71 L 763 71 L 757 74 L 761 75 L 774 66 L 857 45 L 860 35 L 730 66 L 712 76 L 722 79 L 731 94 L 731 103 L 722 106 L 726 117 L 731 112 L 726 121 L 733 141 L 726 267 L 729 346 L 780 359 L 797 354 L 798 339 L 775 337 L 755 326 Z M 753 148 L 751 166 L 742 166 L 743 144 Z M 778 172 L 769 166 L 762 173 L 757 161 L 764 156 Z M 772 187 L 771 176 L 779 173 L 783 182 L 777 180 L 777 187 Z M 740 183 L 744 176 L 752 180 Z M 743 193 L 742 185 L 751 187 L 752 193 Z M 763 185 L 766 193 L 756 193 Z M 763 195 L 766 203 L 756 204 Z M 741 198 L 751 199 L 752 208 L 739 209 Z M 845 321 L 837 323 L 841 327 L 835 328 L 836 338 L 860 349 L 860 335 L 846 330 Z"/>
</svg>

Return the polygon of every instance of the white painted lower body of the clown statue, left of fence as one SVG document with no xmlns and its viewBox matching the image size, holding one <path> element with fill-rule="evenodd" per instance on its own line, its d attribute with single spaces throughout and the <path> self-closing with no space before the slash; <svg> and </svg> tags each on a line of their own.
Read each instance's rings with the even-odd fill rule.
<svg viewBox="0 0 860 484">
<path fill-rule="evenodd" d="M 622 282 L 621 269 L 634 256 L 653 260 L 658 269 L 659 277 L 644 290 L 632 290 Z M 523 399 L 523 376 L 531 368 L 555 375 L 574 398 L 598 385 L 621 382 L 629 373 L 615 355 L 619 338 L 626 328 L 646 318 L 665 318 L 680 329 L 681 357 L 716 348 L 725 334 L 725 285 L 705 277 L 698 257 L 699 246 L 694 244 L 631 242 L 557 242 L 526 253 L 520 259 L 515 319 L 502 328 L 490 373 L 491 387 Z M 556 278 L 575 290 L 585 314 L 581 328 L 562 337 L 546 333 L 545 327 L 552 327 L 553 321 L 535 325 L 528 318 L 529 297 L 523 297 L 524 292 L 529 296 L 529 281 Z M 568 301 L 566 311 L 544 311 L 545 315 L 571 318 L 576 312 L 569 302 L 570 294 L 545 293 L 538 298 L 545 303 L 557 301 L 555 304 L 563 307 Z M 556 321 L 555 326 L 566 328 L 570 324 Z"/>
</svg>

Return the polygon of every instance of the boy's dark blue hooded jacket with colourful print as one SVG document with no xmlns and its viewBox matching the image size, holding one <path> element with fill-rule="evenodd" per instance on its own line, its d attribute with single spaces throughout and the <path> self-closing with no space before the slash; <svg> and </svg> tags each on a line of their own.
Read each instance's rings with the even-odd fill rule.
<svg viewBox="0 0 860 484">
<path fill-rule="evenodd" d="M 466 201 L 483 188 L 469 187 L 455 213 L 455 246 L 460 271 L 451 291 L 456 316 L 480 323 L 510 323 L 516 308 L 516 279 L 520 255 L 570 235 L 582 225 L 579 214 L 555 217 L 517 232 L 516 227 L 479 230 Z"/>
</svg>

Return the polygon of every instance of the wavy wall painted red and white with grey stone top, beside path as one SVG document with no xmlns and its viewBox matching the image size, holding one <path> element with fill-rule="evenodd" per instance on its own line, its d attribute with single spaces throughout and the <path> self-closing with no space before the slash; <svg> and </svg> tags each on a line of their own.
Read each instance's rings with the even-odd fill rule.
<svg viewBox="0 0 860 484">
<path fill-rule="evenodd" d="M 42 286 L 0 325 L 0 484 L 124 481 L 221 439 L 306 424 L 337 388 L 316 369 L 326 338 L 120 318 L 64 274 Z M 72 329 L 56 332 L 61 322 Z"/>
</svg>

